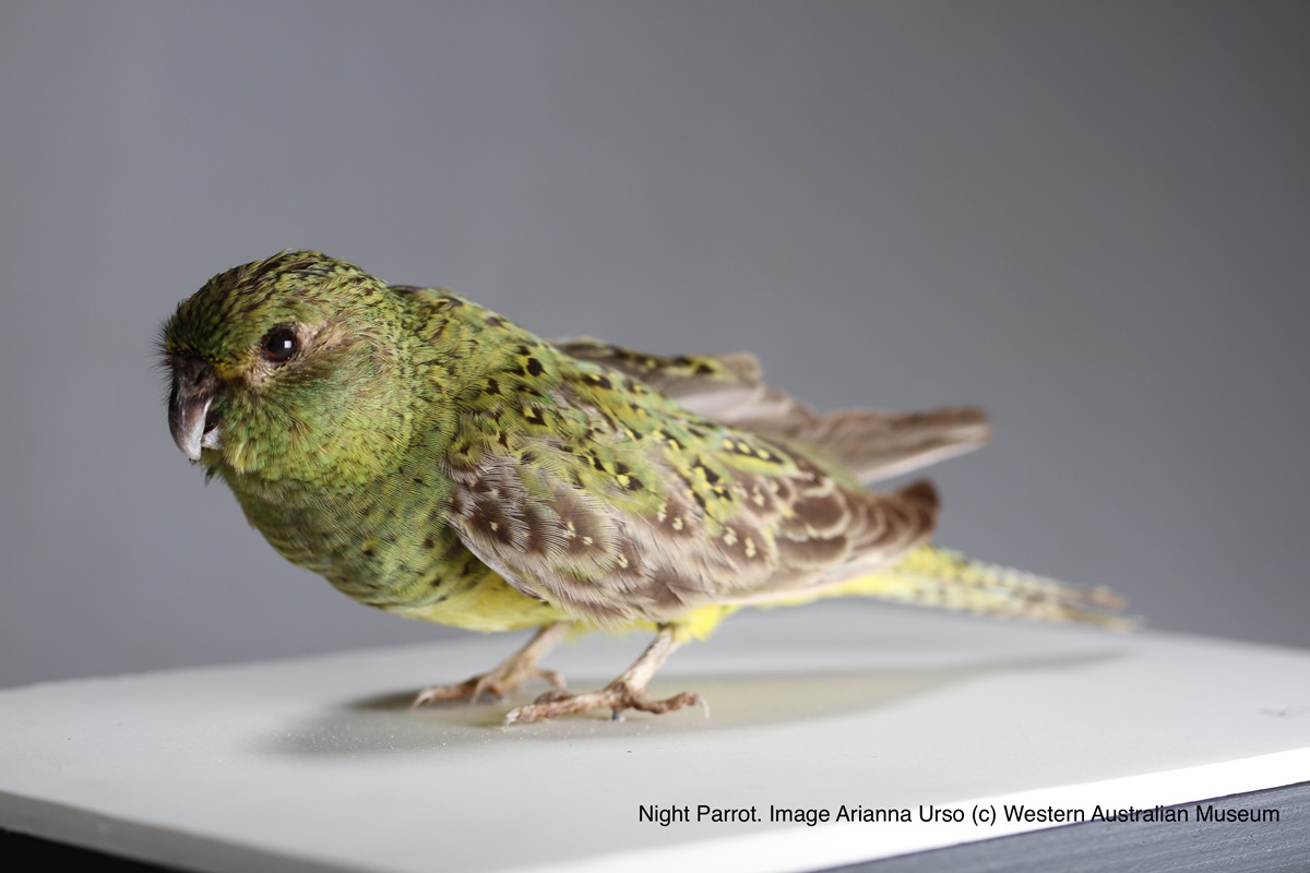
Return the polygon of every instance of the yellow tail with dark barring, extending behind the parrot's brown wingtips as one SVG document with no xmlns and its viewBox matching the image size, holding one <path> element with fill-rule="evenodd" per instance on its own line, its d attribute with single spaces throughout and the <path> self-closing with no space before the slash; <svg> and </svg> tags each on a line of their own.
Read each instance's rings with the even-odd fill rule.
<svg viewBox="0 0 1310 873">
<path fill-rule="evenodd" d="M 1108 588 L 1079 588 L 956 551 L 917 546 L 899 561 L 824 590 L 820 597 L 878 599 L 1040 622 L 1083 622 L 1127 631 L 1124 598 Z"/>
</svg>

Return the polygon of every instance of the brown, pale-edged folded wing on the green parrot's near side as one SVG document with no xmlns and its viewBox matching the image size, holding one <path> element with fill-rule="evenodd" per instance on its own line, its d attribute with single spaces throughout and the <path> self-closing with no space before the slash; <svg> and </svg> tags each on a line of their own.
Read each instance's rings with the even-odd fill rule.
<svg viewBox="0 0 1310 873">
<path fill-rule="evenodd" d="M 449 521 L 520 592 L 601 626 L 817 590 L 892 563 L 937 516 L 927 483 L 852 491 L 803 458 L 786 475 L 735 469 L 724 484 L 654 452 L 643 479 L 669 484 L 643 508 L 576 487 L 546 444 L 532 454 L 452 466 Z"/>
</svg>

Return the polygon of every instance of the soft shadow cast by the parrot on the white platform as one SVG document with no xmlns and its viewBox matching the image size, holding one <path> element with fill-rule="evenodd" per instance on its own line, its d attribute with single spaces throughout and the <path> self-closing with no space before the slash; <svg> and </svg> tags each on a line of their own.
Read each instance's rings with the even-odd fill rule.
<svg viewBox="0 0 1310 873">
<path fill-rule="evenodd" d="M 486 746 L 496 736 L 511 742 L 558 742 L 597 736 L 627 738 L 658 734 L 676 737 L 703 732 L 743 730 L 814 722 L 905 703 L 988 675 L 1015 671 L 1064 671 L 1115 660 L 1115 650 L 1043 657 L 1009 657 L 967 666 L 798 670 L 766 673 L 697 673 L 660 675 L 651 683 L 654 698 L 693 690 L 711 709 L 689 707 L 654 716 L 625 713 L 613 720 L 608 709 L 548 722 L 504 726 L 512 707 L 531 703 L 536 690 L 523 688 L 507 699 L 476 704 L 465 700 L 411 709 L 417 690 L 390 691 L 348 700 L 305 719 L 276 736 L 257 741 L 259 751 L 296 757 L 358 757 L 414 751 L 453 751 Z M 601 687 L 584 677 L 570 687 Z M 707 717 L 709 716 L 709 717 Z M 494 743 L 493 743 L 494 745 Z"/>
</svg>

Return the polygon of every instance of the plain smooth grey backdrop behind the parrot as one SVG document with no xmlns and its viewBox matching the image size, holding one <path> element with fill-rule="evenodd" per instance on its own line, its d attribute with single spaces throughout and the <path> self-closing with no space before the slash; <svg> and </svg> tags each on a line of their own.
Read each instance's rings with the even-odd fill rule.
<svg viewBox="0 0 1310 873">
<path fill-rule="evenodd" d="M 981 403 L 941 541 L 1310 644 L 1307 38 L 1303 3 L 4 3 L 0 685 L 455 633 L 282 561 L 169 440 L 159 323 L 301 246 L 749 348 L 824 408 Z"/>
</svg>

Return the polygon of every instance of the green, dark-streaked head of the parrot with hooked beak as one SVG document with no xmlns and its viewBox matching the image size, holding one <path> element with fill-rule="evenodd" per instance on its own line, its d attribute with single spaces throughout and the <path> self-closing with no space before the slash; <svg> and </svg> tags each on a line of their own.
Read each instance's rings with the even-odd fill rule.
<svg viewBox="0 0 1310 873">
<path fill-rule="evenodd" d="M 221 272 L 164 325 L 177 448 L 227 479 L 367 480 L 403 452 L 401 296 L 288 251 Z"/>
</svg>

